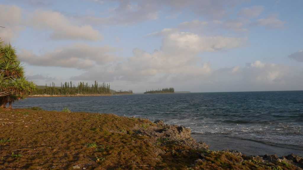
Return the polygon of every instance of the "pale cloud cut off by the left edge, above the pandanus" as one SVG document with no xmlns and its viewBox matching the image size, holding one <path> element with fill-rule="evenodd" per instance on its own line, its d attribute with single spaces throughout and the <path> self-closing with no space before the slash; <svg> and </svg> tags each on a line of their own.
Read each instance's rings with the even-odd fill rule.
<svg viewBox="0 0 303 170">
<path fill-rule="evenodd" d="M 14 41 L 20 31 L 24 28 L 21 25 L 22 15 L 21 8 L 16 5 L 3 5 L 0 4 L 0 28 L 1 38 L 6 41 Z"/>
</svg>

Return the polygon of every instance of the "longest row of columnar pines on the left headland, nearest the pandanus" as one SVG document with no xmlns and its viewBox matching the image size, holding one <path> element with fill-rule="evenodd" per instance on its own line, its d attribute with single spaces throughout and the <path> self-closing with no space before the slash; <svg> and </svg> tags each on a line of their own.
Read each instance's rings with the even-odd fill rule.
<svg viewBox="0 0 303 170">
<path fill-rule="evenodd" d="M 60 88 L 55 86 L 55 83 L 45 84 L 45 89 L 37 89 L 32 94 L 50 94 L 50 95 L 75 95 L 75 94 L 110 94 L 110 84 L 98 84 L 95 81 L 94 84 L 88 85 L 88 83 L 79 82 L 78 85 L 71 82 L 61 83 Z"/>
</svg>

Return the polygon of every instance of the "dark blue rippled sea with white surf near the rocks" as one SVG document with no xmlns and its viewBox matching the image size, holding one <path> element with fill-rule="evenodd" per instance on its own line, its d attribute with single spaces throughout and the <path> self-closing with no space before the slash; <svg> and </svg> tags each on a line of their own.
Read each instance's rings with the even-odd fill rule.
<svg viewBox="0 0 303 170">
<path fill-rule="evenodd" d="M 303 156 L 303 91 L 37 97 L 12 106 L 161 119 L 190 128 L 210 149 Z"/>
</svg>

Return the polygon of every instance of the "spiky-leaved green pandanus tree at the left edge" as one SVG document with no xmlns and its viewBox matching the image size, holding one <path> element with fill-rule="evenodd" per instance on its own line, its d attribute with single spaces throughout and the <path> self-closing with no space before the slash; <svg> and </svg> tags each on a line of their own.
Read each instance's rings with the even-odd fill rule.
<svg viewBox="0 0 303 170">
<path fill-rule="evenodd" d="M 24 76 L 24 67 L 18 59 L 15 47 L 0 40 L 0 108 L 23 99 L 35 91 L 35 83 Z"/>
</svg>

